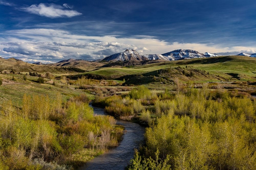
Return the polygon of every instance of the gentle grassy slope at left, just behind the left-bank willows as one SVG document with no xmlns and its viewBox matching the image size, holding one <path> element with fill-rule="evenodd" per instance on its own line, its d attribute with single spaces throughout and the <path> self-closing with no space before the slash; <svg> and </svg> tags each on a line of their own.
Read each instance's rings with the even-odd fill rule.
<svg viewBox="0 0 256 170">
<path fill-rule="evenodd" d="M 12 76 L 16 81 L 12 81 Z M 0 105 L 4 101 L 12 99 L 14 105 L 19 106 L 22 102 L 24 94 L 33 95 L 48 95 L 49 98 L 54 99 L 55 96 L 60 93 L 63 99 L 68 99 L 73 96 L 77 96 L 84 93 L 83 90 L 78 89 L 76 86 L 63 84 L 60 80 L 54 80 L 56 85 L 52 85 L 51 82 L 44 84 L 37 83 L 38 77 L 27 76 L 27 81 L 23 80 L 23 75 L 12 74 L 0 74 L 3 79 L 3 85 L 0 86 Z M 90 99 L 93 99 L 93 95 L 87 94 Z"/>
</svg>

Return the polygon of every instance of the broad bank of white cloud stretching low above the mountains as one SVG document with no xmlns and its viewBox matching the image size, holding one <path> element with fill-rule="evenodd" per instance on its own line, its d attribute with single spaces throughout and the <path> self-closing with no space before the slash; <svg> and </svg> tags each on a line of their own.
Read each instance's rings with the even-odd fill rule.
<svg viewBox="0 0 256 170">
<path fill-rule="evenodd" d="M 162 54 L 175 49 L 191 49 L 201 53 L 223 53 L 223 55 L 256 51 L 256 47 L 222 47 L 211 43 L 168 43 L 147 36 L 126 38 L 86 36 L 53 29 L 6 31 L 1 33 L 0 38 L 0 56 L 15 57 L 28 62 L 35 60 L 58 62 L 68 58 L 98 60 L 126 49 L 134 49 L 140 54 Z"/>
</svg>

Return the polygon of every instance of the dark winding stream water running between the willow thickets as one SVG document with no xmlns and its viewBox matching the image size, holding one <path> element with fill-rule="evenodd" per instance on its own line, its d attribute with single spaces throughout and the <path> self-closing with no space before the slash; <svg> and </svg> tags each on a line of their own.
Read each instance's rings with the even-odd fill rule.
<svg viewBox="0 0 256 170">
<path fill-rule="evenodd" d="M 103 108 L 92 107 L 95 115 L 107 115 Z M 122 170 L 128 165 L 133 158 L 134 148 L 138 148 L 144 139 L 145 128 L 137 123 L 116 120 L 126 130 L 120 145 L 90 160 L 78 170 Z"/>
</svg>

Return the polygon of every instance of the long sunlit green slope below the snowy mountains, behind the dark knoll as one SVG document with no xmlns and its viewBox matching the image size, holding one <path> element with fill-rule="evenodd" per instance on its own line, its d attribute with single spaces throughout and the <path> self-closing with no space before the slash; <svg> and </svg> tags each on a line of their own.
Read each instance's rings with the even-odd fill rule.
<svg viewBox="0 0 256 170">
<path fill-rule="evenodd" d="M 219 56 L 145 64 L 134 68 L 100 68 L 84 75 L 97 75 L 105 79 L 116 79 L 125 75 L 145 74 L 169 67 L 200 69 L 225 79 L 253 79 L 256 76 L 256 58 L 246 56 Z"/>
</svg>

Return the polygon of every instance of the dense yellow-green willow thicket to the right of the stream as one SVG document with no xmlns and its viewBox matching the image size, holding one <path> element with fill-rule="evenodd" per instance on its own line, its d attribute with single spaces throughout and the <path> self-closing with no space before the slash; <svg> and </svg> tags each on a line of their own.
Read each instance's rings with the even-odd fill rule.
<svg viewBox="0 0 256 170">
<path fill-rule="evenodd" d="M 171 169 L 254 169 L 255 101 L 203 90 L 157 100 L 156 124 L 146 129 L 146 145 L 131 167 L 148 167 L 145 160 L 157 160 L 159 151 L 156 164 Z"/>
</svg>

